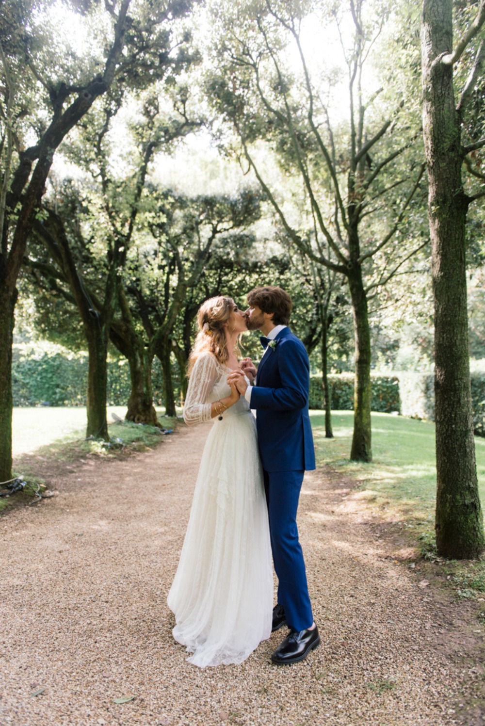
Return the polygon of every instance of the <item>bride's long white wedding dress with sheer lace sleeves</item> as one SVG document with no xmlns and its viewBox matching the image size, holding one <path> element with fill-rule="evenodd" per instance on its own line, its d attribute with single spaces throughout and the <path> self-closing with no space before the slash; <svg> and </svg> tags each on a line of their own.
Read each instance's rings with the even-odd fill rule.
<svg viewBox="0 0 485 726">
<path fill-rule="evenodd" d="M 184 405 L 188 424 L 211 420 L 230 395 L 229 370 L 197 358 Z M 271 635 L 273 571 L 256 421 L 241 396 L 213 425 L 168 606 L 174 638 L 196 666 L 241 663 Z"/>
</svg>

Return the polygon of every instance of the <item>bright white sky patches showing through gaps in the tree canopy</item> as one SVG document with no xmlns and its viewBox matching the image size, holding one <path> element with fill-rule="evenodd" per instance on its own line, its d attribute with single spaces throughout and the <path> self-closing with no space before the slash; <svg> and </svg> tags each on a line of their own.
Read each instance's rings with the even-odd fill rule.
<svg viewBox="0 0 485 726">
<path fill-rule="evenodd" d="M 99 28 L 91 27 L 91 21 L 73 12 L 62 2 L 43 9 L 42 14 L 33 19 L 36 24 L 43 23 L 44 20 L 52 20 L 54 25 L 60 28 L 59 43 L 69 46 L 73 55 L 78 58 L 88 57 L 93 44 L 99 40 Z M 208 10 L 195 9 L 191 26 L 195 44 L 200 47 L 203 58 L 206 59 L 207 44 L 211 42 Z M 323 23 L 315 13 L 306 17 L 301 25 L 301 42 L 312 81 L 319 86 L 322 100 L 327 105 L 334 123 L 345 123 L 349 118 L 348 69 L 343 46 L 346 51 L 351 47 L 352 31 L 351 17 L 346 15 L 339 26 L 335 21 Z M 96 51 L 99 52 L 99 48 Z M 294 41 L 290 41 L 288 45 L 287 57 L 290 69 L 300 75 L 301 59 Z M 203 64 L 204 62 L 205 60 Z M 365 87 L 369 89 L 369 94 L 372 94 L 378 88 L 378 81 L 372 73 L 367 73 L 365 80 L 367 81 Z M 119 174 L 123 174 L 126 160 L 129 158 L 127 124 L 135 115 L 136 104 L 128 103 L 118 113 L 110 132 L 113 137 L 111 163 L 115 163 Z M 61 178 L 79 175 L 78 168 L 62 158 L 62 153 L 54 158 L 53 167 L 55 174 Z M 152 177 L 154 181 L 164 186 L 180 189 L 189 195 L 200 193 L 200 184 L 203 185 L 205 192 L 235 191 L 248 184 L 248 179 L 243 179 L 239 166 L 221 160 L 208 129 L 200 129 L 197 133 L 187 136 L 171 155 L 166 152 L 156 155 L 152 163 Z"/>
</svg>

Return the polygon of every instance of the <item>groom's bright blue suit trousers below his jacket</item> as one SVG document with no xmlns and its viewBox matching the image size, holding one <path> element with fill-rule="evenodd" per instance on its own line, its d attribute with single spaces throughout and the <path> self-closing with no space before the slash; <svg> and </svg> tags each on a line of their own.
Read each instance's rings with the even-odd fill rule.
<svg viewBox="0 0 485 726">
<path fill-rule="evenodd" d="M 285 608 L 288 627 L 298 632 L 313 623 L 296 525 L 303 474 L 304 471 L 264 471 L 269 533 L 278 578 L 278 603 Z"/>
</svg>

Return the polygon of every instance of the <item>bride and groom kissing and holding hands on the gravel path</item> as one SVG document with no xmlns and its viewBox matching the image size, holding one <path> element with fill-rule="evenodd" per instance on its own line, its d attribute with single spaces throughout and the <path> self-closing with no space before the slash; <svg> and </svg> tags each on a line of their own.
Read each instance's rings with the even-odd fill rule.
<svg viewBox="0 0 485 726">
<path fill-rule="evenodd" d="M 248 303 L 243 312 L 231 298 L 205 301 L 189 356 L 184 420 L 213 426 L 168 606 L 175 640 L 201 668 L 242 663 L 283 626 L 288 635 L 271 656 L 278 665 L 302 661 L 320 642 L 296 526 L 303 473 L 315 468 L 308 354 L 288 327 L 285 290 L 256 287 Z M 257 371 L 237 359 L 246 330 L 264 335 Z"/>
</svg>

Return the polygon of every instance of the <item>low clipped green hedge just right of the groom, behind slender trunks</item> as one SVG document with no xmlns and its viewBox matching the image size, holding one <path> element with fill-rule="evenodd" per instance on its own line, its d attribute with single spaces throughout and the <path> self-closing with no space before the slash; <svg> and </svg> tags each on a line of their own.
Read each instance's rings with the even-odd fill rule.
<svg viewBox="0 0 485 726">
<path fill-rule="evenodd" d="M 354 408 L 354 374 L 332 374 L 329 375 L 328 380 L 332 392 L 332 408 L 336 411 L 351 411 Z M 371 380 L 372 411 L 399 412 L 399 379 L 394 375 L 371 375 Z M 314 375 L 310 378 L 309 406 L 312 409 L 325 408 L 321 375 Z"/>
</svg>

